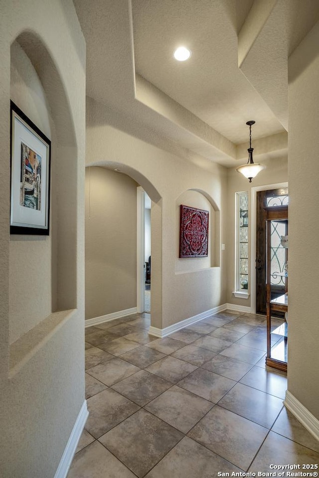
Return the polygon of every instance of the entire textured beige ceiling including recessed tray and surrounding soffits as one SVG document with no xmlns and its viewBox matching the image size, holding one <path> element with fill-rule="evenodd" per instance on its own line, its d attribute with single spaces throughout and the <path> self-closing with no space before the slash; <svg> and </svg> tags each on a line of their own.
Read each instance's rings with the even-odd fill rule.
<svg viewBox="0 0 319 478">
<path fill-rule="evenodd" d="M 309 14 L 299 0 L 74 0 L 87 94 L 226 167 L 247 157 L 249 119 L 259 160 L 287 154 L 287 58 L 318 17 L 305 1 Z M 172 57 L 179 43 L 187 62 Z"/>
</svg>

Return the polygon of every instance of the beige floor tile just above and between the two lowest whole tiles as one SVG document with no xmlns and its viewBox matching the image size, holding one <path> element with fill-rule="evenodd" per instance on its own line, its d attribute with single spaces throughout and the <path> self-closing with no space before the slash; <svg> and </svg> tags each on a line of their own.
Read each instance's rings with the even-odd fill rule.
<svg viewBox="0 0 319 478">
<path fill-rule="evenodd" d="M 213 406 L 208 400 L 173 385 L 146 405 L 145 409 L 177 430 L 187 433 Z"/>
</svg>

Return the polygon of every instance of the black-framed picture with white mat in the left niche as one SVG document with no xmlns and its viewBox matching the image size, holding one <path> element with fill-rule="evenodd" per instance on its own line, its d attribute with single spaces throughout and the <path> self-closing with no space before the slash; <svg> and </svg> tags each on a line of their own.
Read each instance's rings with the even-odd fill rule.
<svg viewBox="0 0 319 478">
<path fill-rule="evenodd" d="M 51 141 L 11 101 L 10 234 L 49 235 Z"/>
</svg>

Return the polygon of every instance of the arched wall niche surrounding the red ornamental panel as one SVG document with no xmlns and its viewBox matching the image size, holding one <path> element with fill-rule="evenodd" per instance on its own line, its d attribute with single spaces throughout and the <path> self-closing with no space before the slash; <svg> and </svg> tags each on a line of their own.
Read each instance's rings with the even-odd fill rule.
<svg viewBox="0 0 319 478">
<path fill-rule="evenodd" d="M 179 258 L 179 235 L 180 235 L 180 205 L 208 211 L 208 256 Z M 220 211 L 214 199 L 202 189 L 190 188 L 183 191 L 176 198 L 176 254 L 175 273 L 187 273 L 200 271 L 211 267 L 220 266 Z"/>
</svg>

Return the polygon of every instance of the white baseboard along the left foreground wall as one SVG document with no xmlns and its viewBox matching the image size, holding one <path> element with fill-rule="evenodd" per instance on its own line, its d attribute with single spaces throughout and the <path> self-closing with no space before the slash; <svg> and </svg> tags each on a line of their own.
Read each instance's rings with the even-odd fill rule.
<svg viewBox="0 0 319 478">
<path fill-rule="evenodd" d="M 89 412 L 84 400 L 54 478 L 66 478 L 88 416 Z"/>
</svg>

